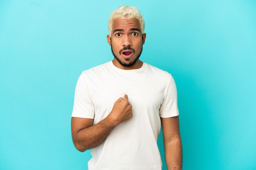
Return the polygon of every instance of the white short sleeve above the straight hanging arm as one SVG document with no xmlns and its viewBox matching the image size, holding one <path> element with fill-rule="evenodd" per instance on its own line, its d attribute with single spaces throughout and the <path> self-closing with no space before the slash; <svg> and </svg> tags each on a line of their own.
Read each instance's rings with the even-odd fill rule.
<svg viewBox="0 0 256 170">
<path fill-rule="evenodd" d="M 177 89 L 173 76 L 171 76 L 171 81 L 168 85 L 164 101 L 159 109 L 159 116 L 161 118 L 169 118 L 178 115 Z"/>
</svg>

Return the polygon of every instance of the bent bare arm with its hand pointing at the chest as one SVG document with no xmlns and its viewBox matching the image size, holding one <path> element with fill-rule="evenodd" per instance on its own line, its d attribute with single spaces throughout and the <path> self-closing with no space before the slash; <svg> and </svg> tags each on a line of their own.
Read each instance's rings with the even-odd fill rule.
<svg viewBox="0 0 256 170">
<path fill-rule="evenodd" d="M 77 150 L 84 152 L 101 144 L 110 132 L 120 124 L 132 117 L 132 105 L 128 102 L 128 96 L 119 98 L 109 115 L 94 124 L 90 118 L 72 117 L 71 129 L 72 139 Z"/>
</svg>

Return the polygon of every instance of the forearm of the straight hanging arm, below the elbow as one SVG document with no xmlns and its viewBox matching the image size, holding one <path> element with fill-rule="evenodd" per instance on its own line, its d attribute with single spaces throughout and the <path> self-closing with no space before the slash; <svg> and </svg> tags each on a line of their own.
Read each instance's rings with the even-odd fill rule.
<svg viewBox="0 0 256 170">
<path fill-rule="evenodd" d="M 164 145 L 168 170 L 182 170 L 182 144 L 180 136 Z"/>
</svg>

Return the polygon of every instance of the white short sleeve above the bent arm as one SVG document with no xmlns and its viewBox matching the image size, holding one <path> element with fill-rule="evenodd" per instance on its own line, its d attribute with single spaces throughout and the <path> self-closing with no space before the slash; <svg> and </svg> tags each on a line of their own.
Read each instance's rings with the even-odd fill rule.
<svg viewBox="0 0 256 170">
<path fill-rule="evenodd" d="M 94 118 L 94 105 L 88 91 L 88 78 L 85 72 L 82 72 L 76 83 L 72 117 Z"/>
</svg>

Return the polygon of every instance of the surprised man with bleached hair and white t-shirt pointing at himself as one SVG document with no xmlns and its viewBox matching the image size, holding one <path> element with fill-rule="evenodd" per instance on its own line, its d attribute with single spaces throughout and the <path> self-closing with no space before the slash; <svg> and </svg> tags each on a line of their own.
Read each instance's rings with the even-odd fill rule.
<svg viewBox="0 0 256 170">
<path fill-rule="evenodd" d="M 144 20 L 136 7 L 110 14 L 114 59 L 80 75 L 72 112 L 72 139 L 91 149 L 89 170 L 162 170 L 157 138 L 164 137 L 168 170 L 182 169 L 177 90 L 170 73 L 139 60 Z"/>
</svg>

